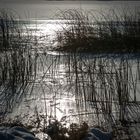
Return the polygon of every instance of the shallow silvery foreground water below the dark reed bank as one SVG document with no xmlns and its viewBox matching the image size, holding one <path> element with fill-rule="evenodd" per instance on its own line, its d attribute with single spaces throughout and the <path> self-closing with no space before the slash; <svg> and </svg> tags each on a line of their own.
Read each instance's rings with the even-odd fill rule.
<svg viewBox="0 0 140 140">
<path fill-rule="evenodd" d="M 39 115 L 40 127 L 44 119 L 57 119 L 68 124 L 85 121 L 90 126 L 110 129 L 119 119 L 118 90 L 121 88 L 130 100 L 125 117 L 130 121 L 139 119 L 139 104 L 133 105 L 135 95 L 140 101 L 140 59 L 135 55 L 75 56 L 39 51 L 37 61 L 36 79 L 29 82 L 23 100 L 17 101 L 9 117 L 36 126 Z M 137 111 L 131 114 L 132 110 Z"/>
</svg>

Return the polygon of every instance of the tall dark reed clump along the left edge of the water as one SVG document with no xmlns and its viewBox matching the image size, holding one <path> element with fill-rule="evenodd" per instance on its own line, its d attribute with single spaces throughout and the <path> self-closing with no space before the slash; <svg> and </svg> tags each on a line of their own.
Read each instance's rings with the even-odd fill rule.
<svg viewBox="0 0 140 140">
<path fill-rule="evenodd" d="M 32 81 L 35 53 L 28 29 L 14 13 L 0 11 L 0 102 L 1 114 L 12 109 Z M 26 32 L 26 34 L 25 34 Z"/>
</svg>

